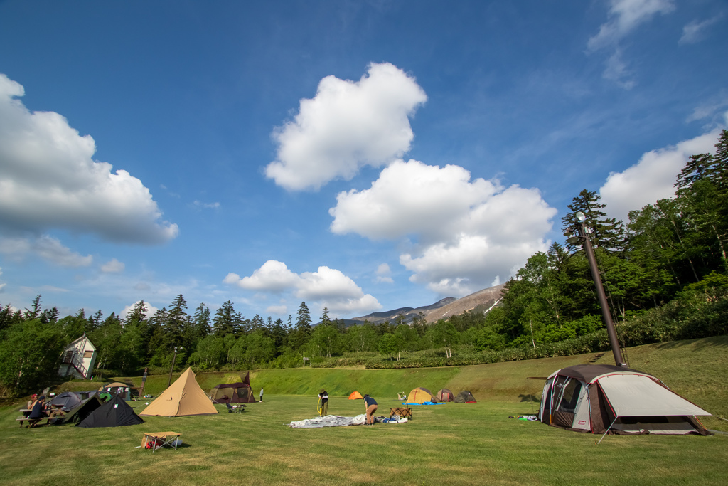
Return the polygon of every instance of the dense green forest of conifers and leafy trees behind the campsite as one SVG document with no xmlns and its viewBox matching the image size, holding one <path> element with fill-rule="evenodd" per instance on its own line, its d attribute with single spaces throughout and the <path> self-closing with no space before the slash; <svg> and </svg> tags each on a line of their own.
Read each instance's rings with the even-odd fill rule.
<svg viewBox="0 0 728 486">
<path fill-rule="evenodd" d="M 624 345 L 725 334 L 727 317 L 728 131 L 716 154 L 696 154 L 676 179 L 676 196 L 630 212 L 626 225 L 606 217 L 587 189 L 563 218 L 573 231 L 585 214 L 617 334 Z M 347 364 L 422 367 L 564 356 L 609 348 L 587 258 L 578 240 L 553 243 L 528 259 L 507 282 L 498 307 L 475 308 L 428 323 L 344 326 L 323 309 L 312 326 L 305 302 L 284 323 L 245 318 L 231 301 L 211 315 L 204 302 L 190 315 L 178 295 L 154 315 L 143 301 L 126 318 L 84 310 L 59 318 L 41 310 L 40 296 L 24 311 L 0 306 L 0 382 L 22 393 L 50 380 L 59 345 L 86 333 L 98 348 L 97 367 L 138 375 L 144 367 L 234 370 Z M 304 359 L 305 358 L 305 359 Z M 98 371 L 97 371 L 98 372 Z"/>
</svg>

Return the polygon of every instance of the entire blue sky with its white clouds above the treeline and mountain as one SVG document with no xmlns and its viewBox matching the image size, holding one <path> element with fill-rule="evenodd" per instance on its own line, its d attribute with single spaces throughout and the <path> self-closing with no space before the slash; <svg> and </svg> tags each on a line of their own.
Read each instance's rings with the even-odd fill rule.
<svg viewBox="0 0 728 486">
<path fill-rule="evenodd" d="M 727 126 L 721 0 L 6 0 L 0 46 L 0 302 L 64 315 L 463 297 Z"/>
</svg>

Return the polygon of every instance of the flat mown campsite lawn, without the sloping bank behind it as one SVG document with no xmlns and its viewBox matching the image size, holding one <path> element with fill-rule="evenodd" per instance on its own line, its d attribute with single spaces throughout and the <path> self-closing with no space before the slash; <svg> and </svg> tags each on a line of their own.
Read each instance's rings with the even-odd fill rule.
<svg viewBox="0 0 728 486">
<path fill-rule="evenodd" d="M 379 399 L 380 411 L 395 399 Z M 725 484 L 728 436 L 598 436 L 509 415 L 531 404 L 480 401 L 414 407 L 414 420 L 373 427 L 295 429 L 315 396 L 268 395 L 242 414 L 146 418 L 139 426 L 18 428 L 0 409 L 4 485 L 226 484 Z M 131 402 L 143 409 L 141 402 Z M 329 412 L 362 401 L 333 396 Z M 143 450 L 145 431 L 177 431 L 184 447 Z"/>
</svg>

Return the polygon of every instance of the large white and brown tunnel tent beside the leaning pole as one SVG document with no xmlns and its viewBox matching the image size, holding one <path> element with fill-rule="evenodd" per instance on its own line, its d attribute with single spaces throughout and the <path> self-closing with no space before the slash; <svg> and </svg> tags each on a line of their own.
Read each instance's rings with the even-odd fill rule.
<svg viewBox="0 0 728 486">
<path fill-rule="evenodd" d="M 614 365 L 559 369 L 544 385 L 539 420 L 593 434 L 710 435 L 696 415 L 711 415 L 652 375 Z"/>
</svg>

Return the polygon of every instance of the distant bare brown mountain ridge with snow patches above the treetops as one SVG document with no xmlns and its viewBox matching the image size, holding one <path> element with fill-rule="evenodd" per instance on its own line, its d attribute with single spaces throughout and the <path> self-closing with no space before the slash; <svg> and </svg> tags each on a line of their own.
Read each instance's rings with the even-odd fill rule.
<svg viewBox="0 0 728 486">
<path fill-rule="evenodd" d="M 445 297 L 434 304 L 423 307 L 400 307 L 394 310 L 385 310 L 384 312 L 373 312 L 360 317 L 344 319 L 344 323 L 347 327 L 355 324 L 364 324 L 364 321 L 369 321 L 371 324 L 381 324 L 384 321 L 391 323 L 397 315 L 403 314 L 405 316 L 405 322 L 409 324 L 419 313 L 424 314 L 427 322 L 436 322 L 439 319 L 448 318 L 451 315 L 462 314 L 466 310 L 472 310 L 478 306 L 483 307 L 484 311 L 490 310 L 491 307 L 500 302 L 504 286 L 505 283 L 477 291 L 475 294 L 470 294 L 460 299 Z"/>
</svg>

